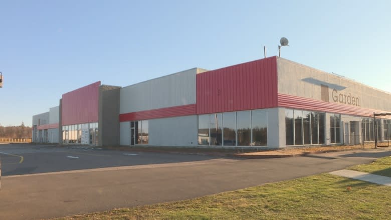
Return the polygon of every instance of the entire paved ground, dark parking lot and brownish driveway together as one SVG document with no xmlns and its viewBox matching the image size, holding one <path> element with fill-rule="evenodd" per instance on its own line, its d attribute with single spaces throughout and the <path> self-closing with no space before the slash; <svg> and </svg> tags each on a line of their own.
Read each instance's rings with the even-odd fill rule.
<svg viewBox="0 0 391 220">
<path fill-rule="evenodd" d="M 391 149 L 235 159 L 0 144 L 0 219 L 45 219 L 177 201 L 344 169 Z M 57 172 L 60 171 L 60 172 Z"/>
</svg>

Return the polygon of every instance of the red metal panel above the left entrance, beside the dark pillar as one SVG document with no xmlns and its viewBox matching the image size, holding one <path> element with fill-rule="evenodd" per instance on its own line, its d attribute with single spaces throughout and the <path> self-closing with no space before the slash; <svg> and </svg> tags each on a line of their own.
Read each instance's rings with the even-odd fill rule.
<svg viewBox="0 0 391 220">
<path fill-rule="evenodd" d="M 100 81 L 63 94 L 62 124 L 98 121 Z"/>
</svg>

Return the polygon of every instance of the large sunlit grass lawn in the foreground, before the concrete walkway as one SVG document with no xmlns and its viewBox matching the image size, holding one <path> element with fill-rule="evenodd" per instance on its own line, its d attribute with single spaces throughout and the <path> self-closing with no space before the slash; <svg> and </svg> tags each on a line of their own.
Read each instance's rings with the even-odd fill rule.
<svg viewBox="0 0 391 220">
<path fill-rule="evenodd" d="M 389 207 L 389 186 L 319 174 L 191 200 L 60 219 L 389 219 Z"/>
</svg>

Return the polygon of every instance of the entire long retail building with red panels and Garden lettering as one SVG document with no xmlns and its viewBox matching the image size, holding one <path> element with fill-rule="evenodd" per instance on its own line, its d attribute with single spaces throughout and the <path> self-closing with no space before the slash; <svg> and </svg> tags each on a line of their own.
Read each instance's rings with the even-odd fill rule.
<svg viewBox="0 0 391 220">
<path fill-rule="evenodd" d="M 269 57 L 126 87 L 87 85 L 33 116 L 33 140 L 258 148 L 359 144 L 389 138 L 391 117 L 372 116 L 391 112 L 390 100 L 390 93 Z"/>
</svg>

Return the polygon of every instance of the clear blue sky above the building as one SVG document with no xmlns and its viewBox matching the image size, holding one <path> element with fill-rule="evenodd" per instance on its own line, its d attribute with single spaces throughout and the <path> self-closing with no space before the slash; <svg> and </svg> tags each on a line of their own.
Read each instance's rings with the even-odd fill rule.
<svg viewBox="0 0 391 220">
<path fill-rule="evenodd" d="M 1 1 L 0 124 L 63 93 L 278 55 L 391 92 L 391 1 Z M 390 100 L 391 101 L 391 100 Z"/>
</svg>

